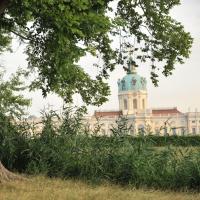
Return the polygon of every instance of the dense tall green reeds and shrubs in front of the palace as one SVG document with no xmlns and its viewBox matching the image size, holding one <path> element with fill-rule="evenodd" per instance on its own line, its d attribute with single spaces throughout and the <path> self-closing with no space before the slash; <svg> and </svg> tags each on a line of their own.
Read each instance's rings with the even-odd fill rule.
<svg viewBox="0 0 200 200">
<path fill-rule="evenodd" d="M 28 174 L 108 180 L 135 187 L 199 189 L 198 136 L 90 135 L 81 123 L 83 111 L 66 109 L 62 119 L 55 112 L 45 113 L 41 133 L 32 136 L 30 125 L 10 123 L 1 115 L 0 160 L 8 169 Z M 59 126 L 54 123 L 56 117 L 62 121 Z"/>
</svg>

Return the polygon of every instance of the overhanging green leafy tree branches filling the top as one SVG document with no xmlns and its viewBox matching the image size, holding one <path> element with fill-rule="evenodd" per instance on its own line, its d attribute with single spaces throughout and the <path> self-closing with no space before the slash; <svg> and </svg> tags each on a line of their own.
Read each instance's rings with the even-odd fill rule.
<svg viewBox="0 0 200 200">
<path fill-rule="evenodd" d="M 112 9 L 113 3 L 117 9 Z M 28 70 L 37 74 L 31 88 L 53 91 L 67 102 L 79 93 L 87 104 L 107 100 L 106 79 L 126 59 L 126 49 L 137 54 L 134 64 L 151 61 L 165 76 L 189 57 L 192 38 L 170 16 L 180 0 L 1 0 L 0 51 L 13 36 L 26 43 Z M 122 37 L 112 48 L 111 36 Z M 136 44 L 137 43 L 137 47 Z M 77 63 L 87 53 L 101 56 L 103 65 L 92 79 Z M 159 64 L 160 63 L 160 64 Z"/>
</svg>

